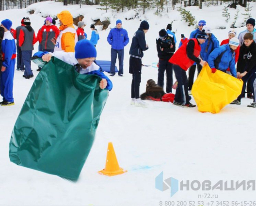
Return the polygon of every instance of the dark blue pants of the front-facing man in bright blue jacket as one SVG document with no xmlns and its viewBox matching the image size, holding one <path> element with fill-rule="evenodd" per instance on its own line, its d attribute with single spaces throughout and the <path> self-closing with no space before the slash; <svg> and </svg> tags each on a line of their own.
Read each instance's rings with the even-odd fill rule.
<svg viewBox="0 0 256 206">
<path fill-rule="evenodd" d="M 111 48 L 111 66 L 110 66 L 110 73 L 115 75 L 115 63 L 118 54 L 118 61 L 119 61 L 119 71 L 118 75 L 124 74 L 124 56 L 125 56 L 125 49 L 116 50 Z"/>
</svg>

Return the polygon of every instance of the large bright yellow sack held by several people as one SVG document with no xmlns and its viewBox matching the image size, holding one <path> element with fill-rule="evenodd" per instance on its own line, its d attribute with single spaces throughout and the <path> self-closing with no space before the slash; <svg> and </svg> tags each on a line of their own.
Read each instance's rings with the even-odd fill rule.
<svg viewBox="0 0 256 206">
<path fill-rule="evenodd" d="M 211 73 L 207 64 L 192 87 L 192 95 L 198 111 L 218 113 L 234 101 L 242 91 L 243 81 L 220 70 Z"/>
</svg>

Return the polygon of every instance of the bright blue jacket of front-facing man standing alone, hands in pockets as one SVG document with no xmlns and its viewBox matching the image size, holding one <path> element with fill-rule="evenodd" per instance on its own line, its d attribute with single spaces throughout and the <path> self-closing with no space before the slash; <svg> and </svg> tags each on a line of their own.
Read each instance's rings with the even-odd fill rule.
<svg viewBox="0 0 256 206">
<path fill-rule="evenodd" d="M 107 40 L 112 48 L 116 50 L 123 49 L 129 43 L 128 33 L 123 28 L 110 30 Z"/>
</svg>

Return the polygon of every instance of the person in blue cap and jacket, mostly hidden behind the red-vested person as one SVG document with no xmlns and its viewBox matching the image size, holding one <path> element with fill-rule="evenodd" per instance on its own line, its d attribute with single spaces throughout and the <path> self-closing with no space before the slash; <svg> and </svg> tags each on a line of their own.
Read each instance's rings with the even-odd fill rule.
<svg viewBox="0 0 256 206">
<path fill-rule="evenodd" d="M 190 39 L 196 38 L 197 34 L 203 30 L 203 27 L 206 25 L 205 20 L 200 20 L 198 22 L 198 28 L 191 32 L 190 34 Z M 196 64 L 194 63 L 190 68 L 189 68 L 189 94 L 191 95 L 191 90 L 192 86 L 194 83 L 194 74 L 195 74 L 195 67 L 197 65 L 197 76 L 199 75 L 200 71 L 202 70 L 202 65 L 200 63 Z"/>
</svg>

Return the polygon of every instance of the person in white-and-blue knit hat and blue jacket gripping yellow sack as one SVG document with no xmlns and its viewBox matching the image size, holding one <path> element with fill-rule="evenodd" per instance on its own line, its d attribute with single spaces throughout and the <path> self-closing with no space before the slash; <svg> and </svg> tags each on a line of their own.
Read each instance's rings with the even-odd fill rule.
<svg viewBox="0 0 256 206">
<path fill-rule="evenodd" d="M 217 70 L 225 72 L 230 68 L 231 75 L 237 77 L 235 50 L 239 46 L 239 40 L 236 37 L 230 39 L 229 44 L 225 44 L 219 48 L 215 48 L 208 57 L 208 64 L 211 72 L 215 73 Z"/>
</svg>

